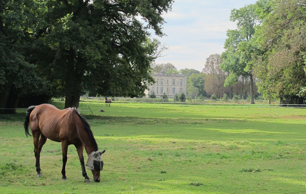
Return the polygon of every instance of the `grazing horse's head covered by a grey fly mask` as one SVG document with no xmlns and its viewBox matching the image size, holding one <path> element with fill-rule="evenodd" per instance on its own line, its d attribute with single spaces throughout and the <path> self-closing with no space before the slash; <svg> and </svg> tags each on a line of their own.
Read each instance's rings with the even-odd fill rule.
<svg viewBox="0 0 306 194">
<path fill-rule="evenodd" d="M 101 155 L 105 152 L 103 151 L 93 151 L 88 156 L 86 166 L 91 170 L 92 175 L 94 176 L 94 181 L 100 181 L 100 171 L 103 169 L 103 160 Z"/>
</svg>

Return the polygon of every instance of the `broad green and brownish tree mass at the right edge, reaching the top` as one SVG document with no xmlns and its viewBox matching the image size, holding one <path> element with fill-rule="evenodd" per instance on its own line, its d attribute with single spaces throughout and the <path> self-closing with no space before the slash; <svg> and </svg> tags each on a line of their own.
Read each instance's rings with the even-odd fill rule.
<svg viewBox="0 0 306 194">
<path fill-rule="evenodd" d="M 253 52 L 251 55 L 258 90 L 265 99 L 280 98 L 281 104 L 284 97 L 303 104 L 306 86 L 306 74 L 303 73 L 306 71 L 306 2 L 260 0 L 256 6 L 256 13 L 263 18 L 254 35 L 261 53 Z"/>
</svg>

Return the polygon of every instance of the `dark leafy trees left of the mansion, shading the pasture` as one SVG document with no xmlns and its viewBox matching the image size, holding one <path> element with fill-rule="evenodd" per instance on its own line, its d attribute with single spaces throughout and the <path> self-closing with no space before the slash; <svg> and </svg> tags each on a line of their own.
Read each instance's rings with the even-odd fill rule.
<svg viewBox="0 0 306 194">
<path fill-rule="evenodd" d="M 148 29 L 164 35 L 172 2 L 1 0 L 0 113 L 60 96 L 78 107 L 84 92 L 142 95 L 165 49 Z"/>
</svg>

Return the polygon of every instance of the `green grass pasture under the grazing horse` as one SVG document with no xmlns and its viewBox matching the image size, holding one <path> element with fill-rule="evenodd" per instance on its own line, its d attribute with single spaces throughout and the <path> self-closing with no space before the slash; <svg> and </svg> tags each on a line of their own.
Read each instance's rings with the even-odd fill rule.
<svg viewBox="0 0 306 194">
<path fill-rule="evenodd" d="M 37 178 L 25 110 L 18 110 L 0 114 L 0 193 L 306 193 L 306 109 L 135 103 L 80 109 L 99 150 L 106 149 L 101 182 L 84 182 L 73 145 L 62 181 L 61 144 L 50 140 Z"/>
</svg>

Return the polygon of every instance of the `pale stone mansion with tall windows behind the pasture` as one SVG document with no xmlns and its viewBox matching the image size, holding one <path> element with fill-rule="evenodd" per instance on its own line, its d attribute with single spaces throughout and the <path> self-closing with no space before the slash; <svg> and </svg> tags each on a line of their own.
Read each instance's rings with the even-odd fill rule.
<svg viewBox="0 0 306 194">
<path fill-rule="evenodd" d="M 186 80 L 185 74 L 163 74 L 152 73 L 151 76 L 155 79 L 155 84 L 149 86 L 149 90 L 145 91 L 146 97 L 150 94 L 150 91 L 155 92 L 157 98 L 162 97 L 166 92 L 168 98 L 173 98 L 176 93 L 186 94 Z"/>
</svg>

